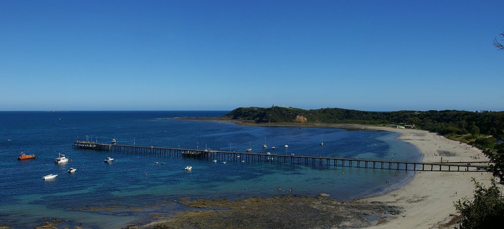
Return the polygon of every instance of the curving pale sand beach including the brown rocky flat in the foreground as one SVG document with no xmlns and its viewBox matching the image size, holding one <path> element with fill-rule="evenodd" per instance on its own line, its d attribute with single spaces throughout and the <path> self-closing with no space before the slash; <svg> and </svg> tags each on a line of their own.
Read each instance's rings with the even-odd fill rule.
<svg viewBox="0 0 504 229">
<path fill-rule="evenodd" d="M 301 127 L 333 127 L 381 130 L 401 133 L 399 139 L 414 144 L 423 154 L 423 162 L 487 162 L 481 150 L 468 144 L 445 138 L 436 133 L 418 129 L 398 129 L 392 127 L 366 126 L 356 124 L 306 124 L 306 123 L 249 123 L 236 122 L 239 125 L 261 126 L 301 126 Z M 229 210 L 186 211 L 176 215 L 163 217 L 149 224 L 137 225 L 131 228 L 160 227 L 258 227 L 258 228 L 328 228 L 328 227 L 373 227 L 373 228 L 453 228 L 460 217 L 454 207 L 454 202 L 473 196 L 474 184 L 472 178 L 488 185 L 492 175 L 487 172 L 440 172 L 416 171 L 414 178 L 405 186 L 385 192 L 380 195 L 365 197 L 346 202 L 340 202 L 332 197 L 302 197 L 283 196 L 275 198 L 247 198 L 240 201 L 219 202 L 210 204 Z M 280 199 L 278 199 L 280 198 Z M 198 200 L 199 201 L 199 200 Z M 188 202 L 189 205 L 196 202 Z M 209 201 L 209 200 L 203 200 Z M 296 206 L 285 206 L 280 202 L 291 202 Z M 244 203 L 242 203 L 244 202 Z M 253 204 L 251 204 L 253 203 Z M 275 204 L 276 203 L 276 204 Z M 208 203 L 200 206 L 208 208 Z M 243 207 L 248 206 L 248 207 Z M 373 209 L 373 210 L 371 210 Z M 385 210 L 384 210 L 385 209 Z M 388 209 L 388 210 L 387 210 Z M 305 217 L 301 221 L 283 217 L 284 221 L 268 222 L 268 217 L 260 217 L 257 212 L 267 215 L 292 215 L 299 212 L 321 211 L 318 215 Z M 324 212 L 324 213 L 322 213 Z M 391 213 L 393 212 L 393 213 Z M 374 222 L 363 222 L 362 215 L 380 215 Z M 382 216 L 383 214 L 383 216 Z M 243 221 L 243 215 L 257 218 L 257 221 Z M 330 216 L 328 218 L 324 218 Z M 206 219 L 198 220 L 198 219 Z M 220 219 L 222 220 L 220 220 Z M 282 217 L 279 217 L 282 218 Z M 338 218 L 338 219 L 336 219 Z M 219 219 L 219 220 L 215 220 Z M 208 223 L 208 221 L 213 221 Z M 287 226 L 289 225 L 289 226 Z"/>
</svg>

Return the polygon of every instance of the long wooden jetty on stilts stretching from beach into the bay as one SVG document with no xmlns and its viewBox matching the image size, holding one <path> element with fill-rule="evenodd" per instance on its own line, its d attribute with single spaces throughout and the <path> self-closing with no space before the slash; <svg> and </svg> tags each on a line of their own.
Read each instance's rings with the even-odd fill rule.
<svg viewBox="0 0 504 229">
<path fill-rule="evenodd" d="M 227 152 L 216 150 L 166 148 L 154 146 L 138 145 L 118 145 L 104 144 L 92 141 L 76 141 L 74 148 L 108 150 L 116 152 L 125 152 L 143 155 L 156 155 L 164 157 L 198 157 L 210 160 L 220 161 L 245 161 L 245 162 L 264 162 L 270 164 L 283 165 L 311 165 L 320 168 L 335 167 L 355 167 L 368 169 L 389 169 L 389 170 L 412 170 L 412 171 L 459 171 L 459 172 L 481 172 L 488 168 L 488 162 L 480 162 L 479 165 L 470 165 L 469 163 L 424 163 L 424 162 L 404 162 L 387 161 L 372 159 L 348 159 L 314 156 L 295 156 L 295 155 L 268 155 L 254 152 Z M 475 164 L 475 163 L 471 163 Z"/>
</svg>

